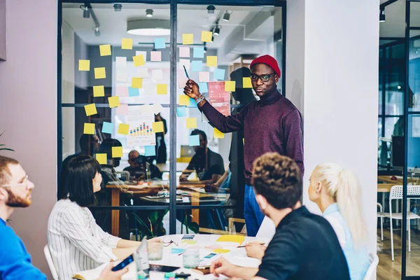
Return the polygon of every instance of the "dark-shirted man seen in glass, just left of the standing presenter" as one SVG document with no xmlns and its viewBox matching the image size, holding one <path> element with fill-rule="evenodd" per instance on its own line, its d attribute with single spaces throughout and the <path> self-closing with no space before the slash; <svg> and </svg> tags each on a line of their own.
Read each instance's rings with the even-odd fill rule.
<svg viewBox="0 0 420 280">
<path fill-rule="evenodd" d="M 187 181 L 192 172 L 197 172 L 200 181 L 215 183 L 224 173 L 223 158 L 207 148 L 207 135 L 202 130 L 193 130 L 191 135 L 199 135 L 200 146 L 194 146 L 195 155 L 187 169 L 182 172 L 179 181 Z"/>
</svg>

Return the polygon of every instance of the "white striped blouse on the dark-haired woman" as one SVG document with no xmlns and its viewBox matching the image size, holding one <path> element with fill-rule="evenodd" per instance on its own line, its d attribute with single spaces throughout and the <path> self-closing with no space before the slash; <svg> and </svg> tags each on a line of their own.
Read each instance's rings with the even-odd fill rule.
<svg viewBox="0 0 420 280">
<path fill-rule="evenodd" d="M 120 238 L 97 225 L 92 212 L 70 200 L 59 200 L 48 219 L 48 246 L 60 280 L 116 260 L 112 249 Z"/>
</svg>

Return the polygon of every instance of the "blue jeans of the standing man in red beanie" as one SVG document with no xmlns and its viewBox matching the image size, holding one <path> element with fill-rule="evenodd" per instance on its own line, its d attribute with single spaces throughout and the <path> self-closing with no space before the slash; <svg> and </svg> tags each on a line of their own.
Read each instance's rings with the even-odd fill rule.
<svg viewBox="0 0 420 280">
<path fill-rule="evenodd" d="M 264 219 L 264 214 L 262 214 L 257 200 L 255 200 L 253 187 L 248 185 L 245 185 L 244 218 L 247 235 L 255 237 Z"/>
</svg>

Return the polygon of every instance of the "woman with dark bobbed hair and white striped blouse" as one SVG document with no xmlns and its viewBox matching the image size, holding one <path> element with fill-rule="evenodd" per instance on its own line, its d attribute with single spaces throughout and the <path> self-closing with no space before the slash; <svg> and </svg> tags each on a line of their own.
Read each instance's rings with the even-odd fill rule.
<svg viewBox="0 0 420 280">
<path fill-rule="evenodd" d="M 59 279 L 94 269 L 105 262 L 123 260 L 140 245 L 104 232 L 87 207 L 101 190 L 101 166 L 89 155 L 69 161 L 60 200 L 48 219 L 48 246 Z"/>
</svg>

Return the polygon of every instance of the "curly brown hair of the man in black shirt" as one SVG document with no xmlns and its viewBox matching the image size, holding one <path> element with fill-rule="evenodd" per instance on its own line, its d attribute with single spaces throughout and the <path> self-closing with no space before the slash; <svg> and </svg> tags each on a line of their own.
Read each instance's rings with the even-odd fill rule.
<svg viewBox="0 0 420 280">
<path fill-rule="evenodd" d="M 278 153 L 265 153 L 254 161 L 252 186 L 276 209 L 293 207 L 302 197 L 299 167 Z"/>
</svg>

